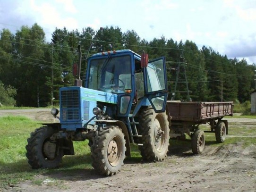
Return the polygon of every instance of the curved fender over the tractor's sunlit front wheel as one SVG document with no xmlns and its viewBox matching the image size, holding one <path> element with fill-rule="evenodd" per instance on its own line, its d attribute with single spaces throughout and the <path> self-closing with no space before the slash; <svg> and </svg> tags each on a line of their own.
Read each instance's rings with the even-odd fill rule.
<svg viewBox="0 0 256 192">
<path fill-rule="evenodd" d="M 130 139 L 129 139 L 129 134 L 126 125 L 122 121 L 118 120 L 95 120 L 95 122 L 106 124 L 106 125 L 117 125 L 119 126 L 123 133 L 124 133 L 124 138 L 126 140 L 126 152 L 125 155 L 130 157 L 131 156 L 131 149 L 130 149 Z"/>
</svg>

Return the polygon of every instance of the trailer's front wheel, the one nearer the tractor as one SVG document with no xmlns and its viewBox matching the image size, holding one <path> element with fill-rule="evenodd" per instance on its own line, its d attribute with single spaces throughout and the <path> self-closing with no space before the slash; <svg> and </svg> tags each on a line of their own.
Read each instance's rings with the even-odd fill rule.
<svg viewBox="0 0 256 192">
<path fill-rule="evenodd" d="M 194 154 L 202 154 L 205 148 L 205 133 L 201 129 L 197 129 L 192 136 L 192 152 Z"/>
</svg>

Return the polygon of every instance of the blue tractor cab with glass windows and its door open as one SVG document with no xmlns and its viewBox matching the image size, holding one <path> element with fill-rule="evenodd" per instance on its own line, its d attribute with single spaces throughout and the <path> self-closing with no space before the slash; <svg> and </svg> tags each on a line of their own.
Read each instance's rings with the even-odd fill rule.
<svg viewBox="0 0 256 192">
<path fill-rule="evenodd" d="M 136 115 L 141 106 L 165 109 L 167 98 L 164 58 L 150 62 L 131 50 L 97 53 L 88 59 L 85 88 L 117 95 L 117 116 Z M 130 115 L 131 116 L 131 115 Z"/>
</svg>

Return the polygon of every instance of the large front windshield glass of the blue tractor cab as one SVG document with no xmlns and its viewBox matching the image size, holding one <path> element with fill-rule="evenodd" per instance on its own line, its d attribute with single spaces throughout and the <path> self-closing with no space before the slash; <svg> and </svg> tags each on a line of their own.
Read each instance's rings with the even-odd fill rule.
<svg viewBox="0 0 256 192">
<path fill-rule="evenodd" d="M 88 88 L 122 93 L 131 90 L 131 58 L 127 56 L 92 59 Z"/>
</svg>

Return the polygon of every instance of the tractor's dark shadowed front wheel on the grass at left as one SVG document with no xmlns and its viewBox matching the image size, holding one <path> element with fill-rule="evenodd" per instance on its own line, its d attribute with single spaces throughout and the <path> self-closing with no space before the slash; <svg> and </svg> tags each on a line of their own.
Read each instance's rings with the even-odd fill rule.
<svg viewBox="0 0 256 192">
<path fill-rule="evenodd" d="M 50 137 L 58 130 L 50 126 L 36 129 L 27 139 L 26 157 L 33 169 L 58 167 L 64 155 L 58 142 L 53 142 Z"/>
</svg>

